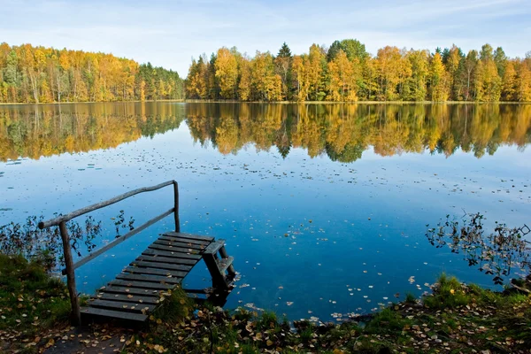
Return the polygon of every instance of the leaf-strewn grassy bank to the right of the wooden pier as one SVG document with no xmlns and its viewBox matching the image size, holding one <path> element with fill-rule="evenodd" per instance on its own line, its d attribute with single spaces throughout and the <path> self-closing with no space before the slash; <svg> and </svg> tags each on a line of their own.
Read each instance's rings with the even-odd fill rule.
<svg viewBox="0 0 531 354">
<path fill-rule="evenodd" d="M 181 301 L 181 300 L 179 300 Z M 274 312 L 233 312 L 204 307 L 177 325 L 151 327 L 133 352 L 188 353 L 388 353 L 528 352 L 531 298 L 492 292 L 441 275 L 434 293 L 382 309 L 366 323 L 317 326 L 280 321 Z M 162 351 L 164 351 L 162 350 Z M 475 351 L 474 351 L 475 350 Z"/>
</svg>

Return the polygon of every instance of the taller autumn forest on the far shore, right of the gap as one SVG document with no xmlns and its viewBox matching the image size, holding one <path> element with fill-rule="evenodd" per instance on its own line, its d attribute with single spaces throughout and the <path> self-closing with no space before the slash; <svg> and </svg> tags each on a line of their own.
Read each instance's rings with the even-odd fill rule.
<svg viewBox="0 0 531 354">
<path fill-rule="evenodd" d="M 192 59 L 186 80 L 191 99 L 241 101 L 531 101 L 531 51 L 508 58 L 489 44 L 464 53 L 456 45 L 435 53 L 387 46 L 376 56 L 355 39 L 329 47 L 312 44 L 292 55 L 254 58 L 220 48 L 211 58 Z"/>
</svg>

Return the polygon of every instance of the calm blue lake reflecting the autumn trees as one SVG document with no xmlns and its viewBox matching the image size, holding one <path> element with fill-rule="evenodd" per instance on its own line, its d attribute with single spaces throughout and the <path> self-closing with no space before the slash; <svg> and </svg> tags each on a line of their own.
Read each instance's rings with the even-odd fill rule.
<svg viewBox="0 0 531 354">
<path fill-rule="evenodd" d="M 181 230 L 227 240 L 242 275 L 227 306 L 332 319 L 366 313 L 442 272 L 492 286 L 425 236 L 447 214 L 531 223 L 531 105 L 50 104 L 0 106 L 0 225 L 180 183 Z M 135 225 L 172 189 L 95 212 Z M 82 221 L 83 218 L 80 218 Z M 93 292 L 170 216 L 77 271 Z M 209 286 L 205 266 L 187 278 Z"/>
</svg>

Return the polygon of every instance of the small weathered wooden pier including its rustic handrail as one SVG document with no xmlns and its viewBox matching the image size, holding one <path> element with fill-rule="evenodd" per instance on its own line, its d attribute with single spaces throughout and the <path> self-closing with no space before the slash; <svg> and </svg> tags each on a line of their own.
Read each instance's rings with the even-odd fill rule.
<svg viewBox="0 0 531 354">
<path fill-rule="evenodd" d="M 66 221 L 95 211 L 104 206 L 118 203 L 119 201 L 135 196 L 142 192 L 161 189 L 173 185 L 174 206 L 167 212 L 151 219 L 119 238 L 108 243 L 99 250 L 95 250 L 85 258 L 73 263 L 70 238 Z M 160 219 L 174 214 L 175 231 L 166 232 L 151 243 L 142 254 L 126 266 L 113 281 L 99 289 L 95 296 L 91 296 L 87 306 L 79 305 L 79 298 L 75 287 L 74 269 L 88 263 L 106 250 L 110 250 L 120 242 L 124 242 L 143 229 L 153 225 Z M 40 228 L 58 226 L 63 241 L 65 255 L 65 270 L 68 291 L 72 304 L 72 322 L 81 324 L 81 315 L 86 317 L 103 317 L 108 319 L 126 319 L 132 321 L 145 321 L 150 317 L 163 294 L 181 286 L 183 279 L 194 266 L 202 259 L 212 276 L 212 288 L 201 290 L 188 290 L 191 293 L 202 293 L 208 297 L 212 294 L 228 294 L 235 280 L 235 269 L 232 265 L 234 258 L 227 255 L 225 240 L 215 240 L 213 237 L 191 235 L 180 232 L 179 225 L 179 189 L 176 181 L 167 181 L 157 186 L 135 189 L 123 195 L 116 196 L 105 202 L 93 204 L 70 214 L 59 216 L 55 219 L 41 222 Z M 185 291 L 187 291 L 185 289 Z"/>
</svg>

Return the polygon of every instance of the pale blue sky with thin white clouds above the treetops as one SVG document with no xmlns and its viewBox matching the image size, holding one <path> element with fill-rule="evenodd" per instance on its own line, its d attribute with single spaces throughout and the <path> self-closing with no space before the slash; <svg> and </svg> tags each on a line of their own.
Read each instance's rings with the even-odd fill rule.
<svg viewBox="0 0 531 354">
<path fill-rule="evenodd" d="M 222 46 L 251 57 L 294 54 L 312 43 L 356 38 L 376 55 L 407 49 L 480 50 L 489 42 L 509 57 L 531 50 L 531 0 L 0 0 L 0 42 L 110 52 L 177 70 Z"/>
</svg>

